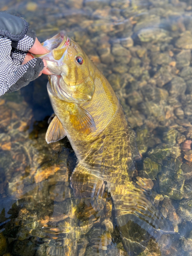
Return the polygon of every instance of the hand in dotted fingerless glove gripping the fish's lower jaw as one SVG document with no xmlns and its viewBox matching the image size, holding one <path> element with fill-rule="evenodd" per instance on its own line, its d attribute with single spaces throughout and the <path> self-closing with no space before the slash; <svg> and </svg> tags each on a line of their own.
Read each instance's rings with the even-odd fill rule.
<svg viewBox="0 0 192 256">
<path fill-rule="evenodd" d="M 28 53 L 47 52 L 28 27 L 24 19 L 0 12 L 0 96 L 19 90 L 42 72 L 50 74 L 46 61 Z"/>
</svg>

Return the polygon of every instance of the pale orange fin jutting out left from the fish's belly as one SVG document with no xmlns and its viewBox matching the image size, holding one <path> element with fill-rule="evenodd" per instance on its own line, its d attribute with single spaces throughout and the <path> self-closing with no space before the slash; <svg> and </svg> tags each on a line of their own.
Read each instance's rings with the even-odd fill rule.
<svg viewBox="0 0 192 256">
<path fill-rule="evenodd" d="M 51 123 L 49 124 L 47 133 L 46 133 L 46 141 L 47 143 L 56 142 L 58 140 L 63 139 L 66 136 L 66 132 L 62 127 L 61 122 L 58 117 L 55 116 Z"/>
</svg>

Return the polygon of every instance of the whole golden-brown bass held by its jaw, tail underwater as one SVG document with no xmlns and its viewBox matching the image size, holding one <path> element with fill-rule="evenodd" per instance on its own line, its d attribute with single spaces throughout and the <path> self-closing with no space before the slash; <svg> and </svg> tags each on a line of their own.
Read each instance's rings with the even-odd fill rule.
<svg viewBox="0 0 192 256">
<path fill-rule="evenodd" d="M 135 135 L 110 83 L 74 40 L 59 33 L 44 42 L 48 93 L 55 117 L 48 143 L 65 136 L 78 158 L 71 176 L 75 197 L 112 198 L 115 222 L 129 255 L 143 251 L 150 238 L 172 233 L 172 226 L 132 182 L 129 171 L 139 157 Z"/>
</svg>

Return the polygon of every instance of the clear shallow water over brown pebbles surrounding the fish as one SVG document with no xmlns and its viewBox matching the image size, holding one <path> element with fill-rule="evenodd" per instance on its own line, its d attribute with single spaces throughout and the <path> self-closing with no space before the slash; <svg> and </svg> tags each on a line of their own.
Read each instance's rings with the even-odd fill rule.
<svg viewBox="0 0 192 256">
<path fill-rule="evenodd" d="M 110 81 L 136 132 L 142 161 L 133 180 L 175 234 L 139 255 L 192 255 L 192 2 L 1 1 L 40 41 L 65 30 Z M 129 255 L 113 203 L 98 211 L 73 196 L 76 157 L 47 144 L 53 113 L 41 76 L 0 98 L 0 255 Z"/>
</svg>

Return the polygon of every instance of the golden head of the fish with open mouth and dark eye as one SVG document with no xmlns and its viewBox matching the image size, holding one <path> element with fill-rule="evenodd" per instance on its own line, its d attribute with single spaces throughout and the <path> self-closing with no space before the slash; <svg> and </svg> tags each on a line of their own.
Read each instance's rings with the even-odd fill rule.
<svg viewBox="0 0 192 256">
<path fill-rule="evenodd" d="M 43 57 L 47 61 L 48 69 L 57 76 L 59 84 L 55 84 L 54 92 L 57 96 L 70 95 L 76 103 L 91 100 L 94 90 L 95 69 L 92 61 L 81 47 L 65 33 L 60 32 L 43 44 L 50 52 Z"/>
</svg>

